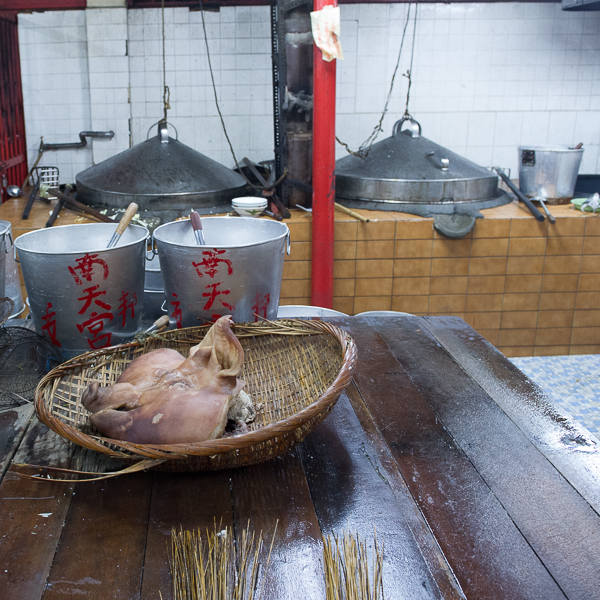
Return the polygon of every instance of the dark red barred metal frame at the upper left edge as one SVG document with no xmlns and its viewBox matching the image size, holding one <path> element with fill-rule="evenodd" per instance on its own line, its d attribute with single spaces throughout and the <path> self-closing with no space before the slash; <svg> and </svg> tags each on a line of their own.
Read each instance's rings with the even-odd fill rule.
<svg viewBox="0 0 600 600">
<path fill-rule="evenodd" d="M 0 178 L 21 185 L 27 175 L 25 116 L 17 18 L 0 13 Z M 2 202 L 6 192 L 0 186 Z"/>
</svg>

